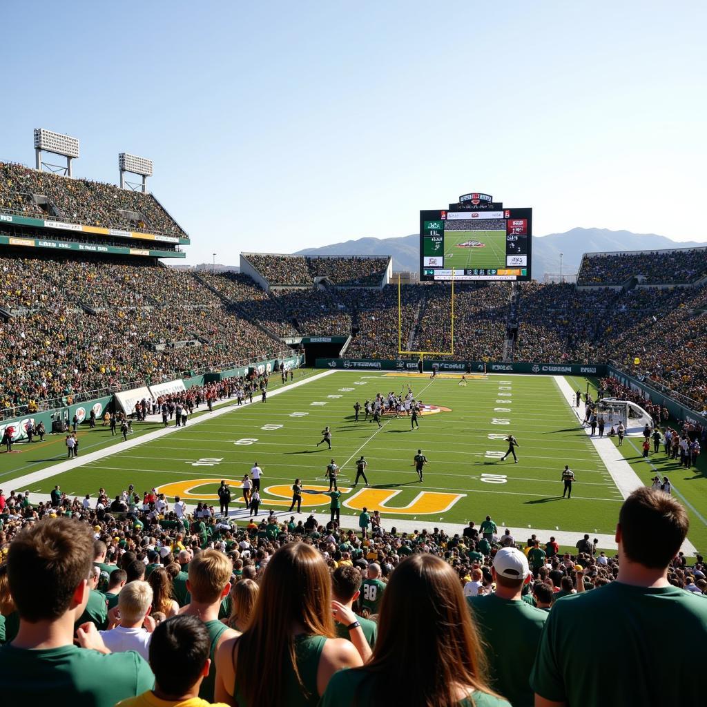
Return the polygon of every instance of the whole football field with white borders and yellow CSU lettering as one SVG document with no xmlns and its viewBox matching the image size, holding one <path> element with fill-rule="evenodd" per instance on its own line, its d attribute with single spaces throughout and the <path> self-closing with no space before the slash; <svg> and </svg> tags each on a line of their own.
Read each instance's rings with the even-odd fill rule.
<svg viewBox="0 0 707 707">
<path fill-rule="evenodd" d="M 105 429 L 84 431 L 82 456 L 70 462 L 60 436 L 50 443 L 54 457 L 40 445 L 29 450 L 17 445 L 32 457 L 2 455 L 1 461 L 11 460 L 15 468 L 1 470 L 1 484 L 6 492 L 26 488 L 40 497 L 60 484 L 79 498 L 86 493 L 95 498 L 100 486 L 115 496 L 134 484 L 138 493 L 155 486 L 170 500 L 180 495 L 187 503 L 215 504 L 218 483 L 227 479 L 235 491 L 233 509 L 243 508 L 240 479 L 257 462 L 264 470 L 261 512 L 288 511 L 291 484 L 299 478 L 305 486 L 303 513 L 327 513 L 329 498 L 319 492 L 328 489 L 325 468 L 334 459 L 341 467 L 341 520 L 351 527 L 365 506 L 380 510 L 390 525 L 409 520 L 420 529 L 437 522 L 479 523 L 488 514 L 500 532 L 508 526 L 516 533 L 532 527 L 578 538 L 583 532 L 613 534 L 623 496 L 554 376 L 489 375 L 471 378 L 466 386 L 452 375 L 431 380 L 357 370 L 300 376 L 282 390 L 274 386 L 267 403 L 239 408 L 228 401 L 214 413 L 195 415 L 186 428 L 141 423 L 136 425 L 141 436 L 136 433 L 127 443 L 110 438 Z M 354 421 L 356 400 L 363 405 L 377 392 L 401 392 L 408 385 L 426 406 L 419 429 L 412 430 L 404 415 L 385 416 L 380 427 L 364 419 L 363 411 Z M 317 446 L 326 425 L 332 428 L 331 451 L 326 444 Z M 501 460 L 509 433 L 518 440 L 517 464 L 512 457 Z M 428 458 L 422 482 L 413 466 L 418 449 Z M 634 463 L 630 446 L 624 452 Z M 361 455 L 368 461 L 370 486 L 352 489 Z M 564 464 L 577 478 L 571 500 L 562 498 Z M 641 467 L 642 480 L 647 474 Z M 705 530 L 693 520 L 691 540 L 703 542 Z"/>
</svg>

